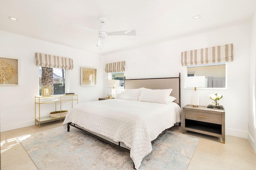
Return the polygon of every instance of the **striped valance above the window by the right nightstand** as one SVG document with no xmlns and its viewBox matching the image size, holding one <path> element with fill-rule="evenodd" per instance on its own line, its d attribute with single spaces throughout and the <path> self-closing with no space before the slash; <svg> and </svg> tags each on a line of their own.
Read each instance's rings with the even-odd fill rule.
<svg viewBox="0 0 256 170">
<path fill-rule="evenodd" d="M 233 61 L 233 44 L 219 45 L 181 53 L 182 66 Z"/>
</svg>

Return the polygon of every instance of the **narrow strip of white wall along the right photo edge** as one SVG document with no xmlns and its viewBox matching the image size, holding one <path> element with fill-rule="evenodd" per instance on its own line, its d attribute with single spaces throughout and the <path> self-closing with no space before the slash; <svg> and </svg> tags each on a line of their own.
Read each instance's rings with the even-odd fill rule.
<svg viewBox="0 0 256 170">
<path fill-rule="evenodd" d="M 248 141 L 256 152 L 256 12 L 250 23 L 250 37 Z"/>
</svg>

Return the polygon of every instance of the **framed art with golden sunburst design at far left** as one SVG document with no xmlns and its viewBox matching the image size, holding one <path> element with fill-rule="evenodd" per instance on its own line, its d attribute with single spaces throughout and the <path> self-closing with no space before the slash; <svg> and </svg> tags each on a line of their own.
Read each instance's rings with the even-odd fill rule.
<svg viewBox="0 0 256 170">
<path fill-rule="evenodd" d="M 0 56 L 0 86 L 18 86 L 18 59 Z"/>
</svg>

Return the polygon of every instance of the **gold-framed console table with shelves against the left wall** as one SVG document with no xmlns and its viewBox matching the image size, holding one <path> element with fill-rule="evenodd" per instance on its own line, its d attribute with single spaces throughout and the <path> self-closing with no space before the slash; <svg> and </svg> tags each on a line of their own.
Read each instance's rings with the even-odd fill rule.
<svg viewBox="0 0 256 170">
<path fill-rule="evenodd" d="M 60 122 L 62 121 L 62 119 L 64 119 L 66 116 L 65 115 L 61 115 L 60 117 L 51 117 L 51 116 L 47 116 L 47 117 L 41 117 L 40 114 L 40 105 L 41 104 L 50 104 L 50 103 L 55 103 L 55 111 L 57 111 L 57 103 L 60 103 L 60 111 L 62 111 L 62 104 L 63 103 L 67 103 L 68 101 L 70 101 L 71 103 L 71 108 L 73 108 L 73 102 L 76 101 L 76 104 L 78 104 L 78 95 L 77 94 L 70 94 L 70 95 L 52 95 L 52 96 L 35 96 L 35 125 L 36 122 L 39 123 L 39 128 L 40 128 L 40 124 L 41 122 L 45 122 L 45 121 L 51 121 L 51 120 L 56 120 L 56 119 L 60 119 Z M 38 115 L 36 113 L 36 106 L 38 105 Z"/>
</svg>

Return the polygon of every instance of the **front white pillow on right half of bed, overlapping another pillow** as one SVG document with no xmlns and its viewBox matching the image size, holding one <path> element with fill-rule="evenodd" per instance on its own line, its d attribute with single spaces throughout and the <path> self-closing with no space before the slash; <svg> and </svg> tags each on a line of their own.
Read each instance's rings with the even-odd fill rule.
<svg viewBox="0 0 256 170">
<path fill-rule="evenodd" d="M 148 89 L 140 88 L 140 96 L 138 101 L 142 102 L 154 102 L 154 103 L 168 103 L 168 97 L 170 96 L 172 89 Z"/>
</svg>

